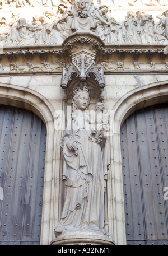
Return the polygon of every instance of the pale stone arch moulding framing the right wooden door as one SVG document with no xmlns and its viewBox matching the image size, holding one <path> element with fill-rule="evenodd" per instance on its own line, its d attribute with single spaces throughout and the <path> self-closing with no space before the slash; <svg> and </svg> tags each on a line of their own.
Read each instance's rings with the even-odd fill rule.
<svg viewBox="0 0 168 256">
<path fill-rule="evenodd" d="M 113 221 L 114 244 L 126 244 L 125 213 L 123 195 L 122 156 L 120 146 L 120 127 L 134 111 L 147 106 L 168 101 L 168 81 L 152 83 L 125 94 L 113 108 L 113 117 L 109 118 L 112 136 L 111 147 L 111 221 Z"/>
</svg>

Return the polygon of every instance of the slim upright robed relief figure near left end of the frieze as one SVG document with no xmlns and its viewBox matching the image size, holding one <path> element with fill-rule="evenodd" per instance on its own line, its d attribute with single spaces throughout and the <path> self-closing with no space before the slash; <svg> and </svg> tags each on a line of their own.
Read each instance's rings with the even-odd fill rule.
<svg viewBox="0 0 168 256">
<path fill-rule="evenodd" d="M 12 19 L 9 23 L 11 27 L 11 31 L 7 36 L 7 40 L 5 43 L 6 45 L 16 45 L 17 35 L 18 35 L 18 30 L 16 29 L 16 26 L 17 26 L 18 19 L 19 19 L 19 14 L 16 12 L 13 12 Z"/>
</svg>

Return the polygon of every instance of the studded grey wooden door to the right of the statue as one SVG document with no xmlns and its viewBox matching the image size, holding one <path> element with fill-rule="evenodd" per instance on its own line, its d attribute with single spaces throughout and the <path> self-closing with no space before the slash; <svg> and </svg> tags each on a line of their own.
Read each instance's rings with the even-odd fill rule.
<svg viewBox="0 0 168 256">
<path fill-rule="evenodd" d="M 168 244 L 168 104 L 130 115 L 120 138 L 127 244 Z"/>
</svg>

